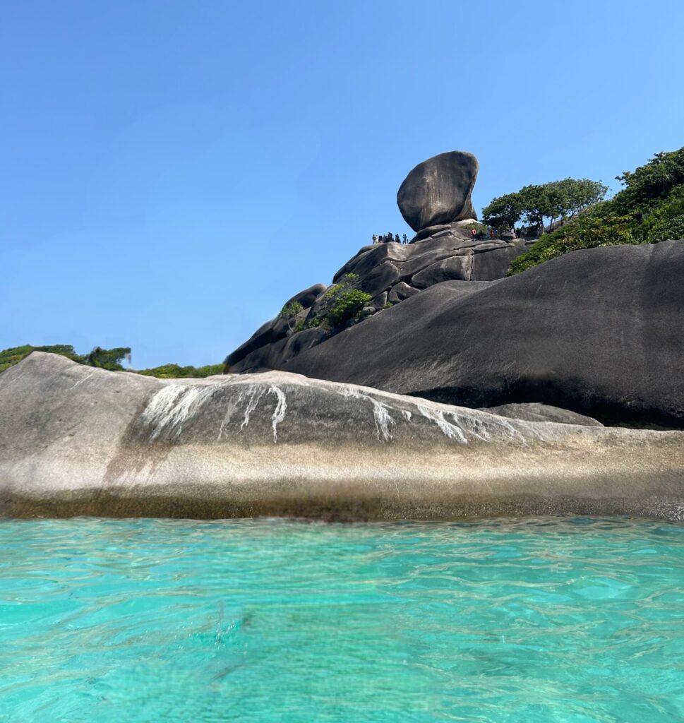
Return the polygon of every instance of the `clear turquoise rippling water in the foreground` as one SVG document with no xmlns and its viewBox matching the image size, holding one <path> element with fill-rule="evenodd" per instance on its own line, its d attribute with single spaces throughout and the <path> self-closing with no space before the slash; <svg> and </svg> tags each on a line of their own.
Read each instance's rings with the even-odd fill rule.
<svg viewBox="0 0 684 723">
<path fill-rule="evenodd" d="M 0 522 L 0 720 L 680 722 L 684 528 Z"/>
</svg>

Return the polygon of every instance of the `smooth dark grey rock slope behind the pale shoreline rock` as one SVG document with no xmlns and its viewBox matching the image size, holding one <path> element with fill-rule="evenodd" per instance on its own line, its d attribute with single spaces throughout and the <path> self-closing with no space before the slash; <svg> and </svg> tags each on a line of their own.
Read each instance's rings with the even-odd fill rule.
<svg viewBox="0 0 684 723">
<path fill-rule="evenodd" d="M 281 368 L 471 407 L 542 402 L 681 428 L 683 278 L 684 241 L 576 251 L 469 294 L 463 281 L 437 283 Z"/>
</svg>

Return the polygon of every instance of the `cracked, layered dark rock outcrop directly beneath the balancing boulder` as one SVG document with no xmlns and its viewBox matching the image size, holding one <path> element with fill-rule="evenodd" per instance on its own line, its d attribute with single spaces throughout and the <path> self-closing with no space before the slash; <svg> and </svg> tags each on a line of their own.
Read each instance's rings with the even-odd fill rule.
<svg viewBox="0 0 684 723">
<path fill-rule="evenodd" d="M 376 313 L 386 304 L 400 304 L 435 283 L 503 278 L 510 262 L 525 250 L 524 244 L 496 239 L 477 241 L 458 226 L 445 226 L 436 235 L 408 245 L 364 246 L 335 273 L 333 286 L 317 284 L 290 300 L 304 307 L 296 318 L 266 322 L 228 356 L 226 363 L 232 372 L 278 369 L 302 351 L 322 343 L 331 330 L 306 327 L 325 318 L 338 298 L 337 291 L 343 287 L 370 294 L 368 309 Z M 297 332 L 299 321 L 305 328 Z"/>
</svg>

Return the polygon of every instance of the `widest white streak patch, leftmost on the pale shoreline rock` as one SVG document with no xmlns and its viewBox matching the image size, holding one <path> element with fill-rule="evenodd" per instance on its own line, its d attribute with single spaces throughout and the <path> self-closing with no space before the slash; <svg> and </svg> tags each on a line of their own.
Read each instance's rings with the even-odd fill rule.
<svg viewBox="0 0 684 723">
<path fill-rule="evenodd" d="M 214 393 L 214 386 L 170 384 L 161 388 L 140 415 L 143 424 L 152 429 L 150 442 L 161 435 L 177 439 L 183 424 L 197 413 Z"/>
</svg>

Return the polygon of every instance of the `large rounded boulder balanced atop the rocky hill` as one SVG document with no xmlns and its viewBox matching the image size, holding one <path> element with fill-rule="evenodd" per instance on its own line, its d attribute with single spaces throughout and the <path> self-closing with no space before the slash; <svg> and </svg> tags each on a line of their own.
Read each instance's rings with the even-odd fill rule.
<svg viewBox="0 0 684 723">
<path fill-rule="evenodd" d="M 419 163 L 406 176 L 397 204 L 414 231 L 477 218 L 470 196 L 477 178 L 477 158 L 454 150 Z"/>
</svg>

